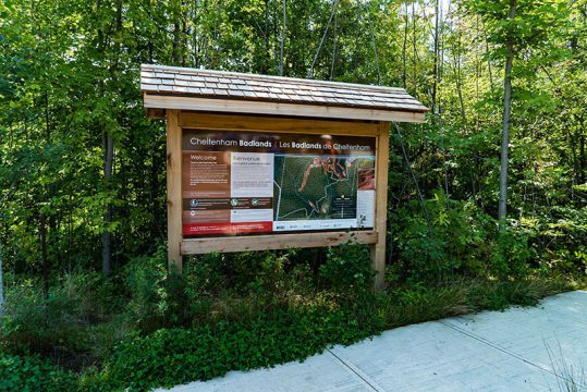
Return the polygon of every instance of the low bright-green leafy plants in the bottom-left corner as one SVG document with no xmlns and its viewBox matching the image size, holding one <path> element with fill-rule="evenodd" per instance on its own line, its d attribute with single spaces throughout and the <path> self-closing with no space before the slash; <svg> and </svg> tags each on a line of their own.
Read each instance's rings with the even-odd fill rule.
<svg viewBox="0 0 587 392">
<path fill-rule="evenodd" d="M 36 356 L 0 353 L 0 391 L 74 391 L 73 373 L 49 365 Z"/>
</svg>

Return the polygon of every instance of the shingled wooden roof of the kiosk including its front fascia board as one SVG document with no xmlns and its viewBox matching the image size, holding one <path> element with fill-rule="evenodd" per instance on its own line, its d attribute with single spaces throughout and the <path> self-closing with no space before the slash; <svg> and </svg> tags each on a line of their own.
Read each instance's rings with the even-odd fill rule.
<svg viewBox="0 0 587 392">
<path fill-rule="evenodd" d="M 423 123 L 428 109 L 402 88 L 142 65 L 144 106 L 164 110 Z"/>
</svg>

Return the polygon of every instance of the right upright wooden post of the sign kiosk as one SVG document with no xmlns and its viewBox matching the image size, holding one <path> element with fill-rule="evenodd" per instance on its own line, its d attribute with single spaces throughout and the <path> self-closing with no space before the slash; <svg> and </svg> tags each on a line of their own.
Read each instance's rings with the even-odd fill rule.
<svg viewBox="0 0 587 392">
<path fill-rule="evenodd" d="M 371 245 L 372 268 L 377 271 L 375 291 L 384 289 L 388 221 L 389 122 L 381 122 L 379 126 L 380 133 L 377 138 L 377 167 L 375 173 L 377 189 L 375 230 L 377 231 L 377 243 Z"/>
</svg>

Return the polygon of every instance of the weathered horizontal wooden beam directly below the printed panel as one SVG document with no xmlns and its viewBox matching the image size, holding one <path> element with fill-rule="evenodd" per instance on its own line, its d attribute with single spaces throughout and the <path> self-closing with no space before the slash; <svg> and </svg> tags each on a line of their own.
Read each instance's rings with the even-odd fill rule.
<svg viewBox="0 0 587 392">
<path fill-rule="evenodd" d="M 348 241 L 358 244 L 375 244 L 378 241 L 378 235 L 375 231 L 358 231 L 186 238 L 181 243 L 181 254 L 325 247 L 340 245 Z"/>
</svg>

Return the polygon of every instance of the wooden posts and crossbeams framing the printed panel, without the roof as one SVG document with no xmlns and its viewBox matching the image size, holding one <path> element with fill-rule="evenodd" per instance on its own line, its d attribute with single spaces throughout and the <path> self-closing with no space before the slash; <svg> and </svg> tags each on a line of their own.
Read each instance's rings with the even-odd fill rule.
<svg viewBox="0 0 587 392">
<path fill-rule="evenodd" d="M 277 118 L 246 114 L 218 114 L 167 110 L 168 256 L 170 268 L 181 272 L 182 256 L 210 252 L 244 252 L 294 247 L 327 247 L 353 241 L 371 246 L 372 266 L 378 271 L 376 290 L 383 289 L 386 267 L 389 123 Z M 243 235 L 183 238 L 182 235 L 182 132 L 183 128 L 313 133 L 376 137 L 376 211 L 372 230 L 302 232 L 295 234 Z"/>
</svg>

